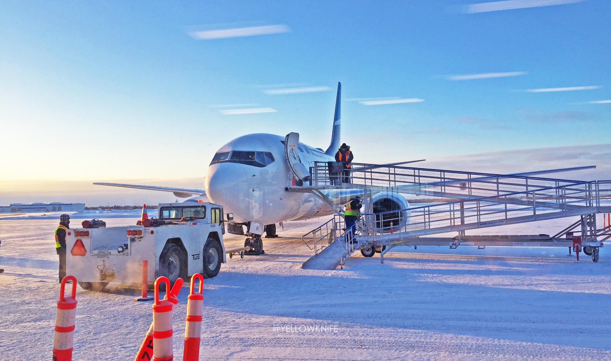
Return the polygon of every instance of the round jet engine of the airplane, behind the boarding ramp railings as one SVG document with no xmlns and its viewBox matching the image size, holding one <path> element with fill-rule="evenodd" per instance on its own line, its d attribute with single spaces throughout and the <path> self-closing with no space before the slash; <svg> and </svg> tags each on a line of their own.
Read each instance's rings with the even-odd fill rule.
<svg viewBox="0 0 611 361">
<path fill-rule="evenodd" d="M 373 202 L 373 213 L 376 214 L 375 222 L 378 232 L 389 233 L 392 227 L 398 232 L 409 224 L 409 203 L 403 195 L 393 192 L 380 192 L 371 199 Z"/>
</svg>

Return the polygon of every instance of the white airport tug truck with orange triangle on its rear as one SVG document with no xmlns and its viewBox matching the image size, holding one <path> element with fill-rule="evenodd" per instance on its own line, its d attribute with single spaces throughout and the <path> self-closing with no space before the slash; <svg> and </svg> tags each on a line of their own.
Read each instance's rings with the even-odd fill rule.
<svg viewBox="0 0 611 361">
<path fill-rule="evenodd" d="M 160 203 L 159 218 L 137 223 L 106 227 L 93 220 L 83 222 L 88 228 L 68 229 L 67 274 L 85 290 L 101 291 L 109 282 L 142 282 L 142 261 L 148 261 L 148 282 L 166 276 L 172 284 L 196 273 L 214 277 L 227 261 L 220 205 Z"/>
</svg>

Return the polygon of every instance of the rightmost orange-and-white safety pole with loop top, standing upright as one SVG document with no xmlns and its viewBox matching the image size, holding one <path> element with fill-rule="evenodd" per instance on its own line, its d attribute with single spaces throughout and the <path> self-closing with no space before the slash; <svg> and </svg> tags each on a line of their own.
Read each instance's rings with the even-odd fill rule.
<svg viewBox="0 0 611 361">
<path fill-rule="evenodd" d="M 199 279 L 198 291 L 194 291 L 195 280 Z M 199 360 L 199 346 L 202 337 L 203 277 L 196 273 L 191 276 L 191 293 L 187 301 L 187 321 L 185 328 L 185 349 L 183 361 Z"/>
</svg>

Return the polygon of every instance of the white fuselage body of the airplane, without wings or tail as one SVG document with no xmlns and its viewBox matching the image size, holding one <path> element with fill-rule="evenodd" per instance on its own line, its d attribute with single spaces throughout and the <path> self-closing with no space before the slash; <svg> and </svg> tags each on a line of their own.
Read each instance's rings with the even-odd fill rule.
<svg viewBox="0 0 611 361">
<path fill-rule="evenodd" d="M 273 162 L 265 166 L 232 159 L 213 161 L 208 166 L 205 178 L 207 197 L 211 202 L 223 205 L 225 213 L 233 213 L 233 222 L 252 221 L 265 225 L 334 213 L 329 205 L 310 193 L 285 190 L 295 183 L 286 161 L 284 140 L 284 137 L 274 134 L 247 134 L 231 140 L 217 151 L 217 155 L 233 151 L 269 152 L 274 158 Z M 230 153 L 228 156 L 232 155 Z M 335 160 L 324 151 L 301 142 L 299 158 L 306 167 L 313 166 L 315 161 Z M 338 197 L 337 194 L 334 196 L 338 203 L 346 198 Z"/>
</svg>

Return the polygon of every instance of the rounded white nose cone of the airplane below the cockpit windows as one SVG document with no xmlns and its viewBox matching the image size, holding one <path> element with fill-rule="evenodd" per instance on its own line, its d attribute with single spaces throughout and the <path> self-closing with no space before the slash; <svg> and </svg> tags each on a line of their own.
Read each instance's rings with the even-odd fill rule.
<svg viewBox="0 0 611 361">
<path fill-rule="evenodd" d="M 234 213 L 240 208 L 249 208 L 248 200 L 243 197 L 244 194 L 247 194 L 248 183 L 246 170 L 242 164 L 211 165 L 208 167 L 205 187 L 208 199 L 229 208 Z"/>
</svg>

